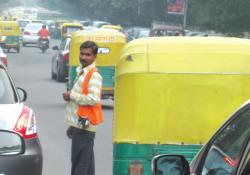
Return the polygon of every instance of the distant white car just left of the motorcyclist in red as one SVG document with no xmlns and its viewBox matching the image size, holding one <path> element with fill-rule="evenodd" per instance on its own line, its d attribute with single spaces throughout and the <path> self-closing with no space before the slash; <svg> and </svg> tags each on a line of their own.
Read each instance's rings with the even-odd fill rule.
<svg viewBox="0 0 250 175">
<path fill-rule="evenodd" d="M 42 26 L 42 23 L 30 23 L 26 25 L 23 31 L 23 46 L 27 44 L 38 44 L 38 32 Z"/>
</svg>

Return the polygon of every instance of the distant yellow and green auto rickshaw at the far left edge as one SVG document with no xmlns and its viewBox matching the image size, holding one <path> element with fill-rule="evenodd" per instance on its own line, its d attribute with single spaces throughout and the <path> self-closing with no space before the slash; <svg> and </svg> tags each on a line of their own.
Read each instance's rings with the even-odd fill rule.
<svg viewBox="0 0 250 175">
<path fill-rule="evenodd" d="M 20 29 L 17 21 L 0 21 L 1 45 L 9 52 L 11 48 L 20 52 Z"/>
</svg>

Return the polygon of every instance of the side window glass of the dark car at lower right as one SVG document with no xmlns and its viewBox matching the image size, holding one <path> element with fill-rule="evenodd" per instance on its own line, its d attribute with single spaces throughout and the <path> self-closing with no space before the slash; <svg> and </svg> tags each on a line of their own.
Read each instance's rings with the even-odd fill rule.
<svg viewBox="0 0 250 175">
<path fill-rule="evenodd" d="M 230 122 L 211 145 L 202 168 L 202 175 L 233 175 L 250 136 L 250 110 Z"/>
</svg>

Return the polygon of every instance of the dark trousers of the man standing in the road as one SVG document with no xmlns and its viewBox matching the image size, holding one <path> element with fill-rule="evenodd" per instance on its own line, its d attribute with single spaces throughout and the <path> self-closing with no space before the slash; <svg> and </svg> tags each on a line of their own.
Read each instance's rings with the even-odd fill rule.
<svg viewBox="0 0 250 175">
<path fill-rule="evenodd" d="M 78 128 L 72 130 L 71 175 L 94 175 L 95 132 Z"/>
</svg>

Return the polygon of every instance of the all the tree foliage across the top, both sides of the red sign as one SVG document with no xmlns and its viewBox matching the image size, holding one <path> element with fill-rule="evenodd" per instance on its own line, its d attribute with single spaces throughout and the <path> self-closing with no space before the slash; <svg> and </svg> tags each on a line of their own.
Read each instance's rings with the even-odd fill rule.
<svg viewBox="0 0 250 175">
<path fill-rule="evenodd" d="M 107 20 L 115 24 L 150 26 L 166 21 L 166 5 L 175 0 L 37 0 L 39 5 L 63 12 L 66 17 Z M 187 26 L 239 35 L 250 29 L 250 0 L 186 0 Z M 1 9 L 20 0 L 0 0 Z M 177 16 L 178 21 L 182 16 Z"/>
</svg>

